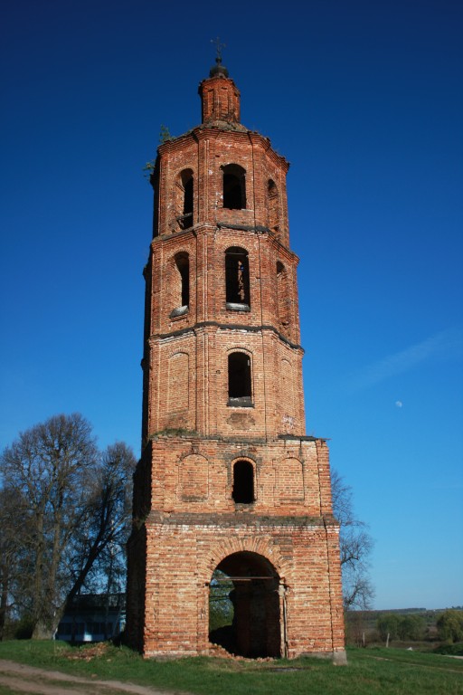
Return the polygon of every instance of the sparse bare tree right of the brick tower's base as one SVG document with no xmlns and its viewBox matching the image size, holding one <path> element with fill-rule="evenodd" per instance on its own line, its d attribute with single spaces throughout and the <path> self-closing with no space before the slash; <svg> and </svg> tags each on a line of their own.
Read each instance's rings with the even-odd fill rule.
<svg viewBox="0 0 463 695">
<path fill-rule="evenodd" d="M 331 472 L 333 513 L 339 521 L 343 598 L 345 608 L 366 610 L 374 589 L 368 574 L 373 538 L 363 521 L 355 519 L 353 492 L 337 471 Z"/>
</svg>

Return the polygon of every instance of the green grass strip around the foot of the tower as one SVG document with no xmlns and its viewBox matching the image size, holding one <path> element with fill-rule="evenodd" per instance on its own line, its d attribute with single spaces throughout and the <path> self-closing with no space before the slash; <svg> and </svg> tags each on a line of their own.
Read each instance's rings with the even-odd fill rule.
<svg viewBox="0 0 463 695">
<path fill-rule="evenodd" d="M 145 661 L 108 644 L 0 643 L 0 659 L 195 695 L 463 695 L 463 660 L 396 649 L 351 649 L 349 664 L 317 659 L 251 661 L 198 657 Z"/>
</svg>

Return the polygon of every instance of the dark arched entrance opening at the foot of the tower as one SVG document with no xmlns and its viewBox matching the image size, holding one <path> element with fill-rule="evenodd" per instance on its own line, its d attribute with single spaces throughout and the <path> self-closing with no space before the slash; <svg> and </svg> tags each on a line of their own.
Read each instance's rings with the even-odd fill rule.
<svg viewBox="0 0 463 695">
<path fill-rule="evenodd" d="M 248 551 L 225 557 L 209 599 L 211 642 L 248 658 L 282 655 L 279 575 L 266 557 Z"/>
</svg>

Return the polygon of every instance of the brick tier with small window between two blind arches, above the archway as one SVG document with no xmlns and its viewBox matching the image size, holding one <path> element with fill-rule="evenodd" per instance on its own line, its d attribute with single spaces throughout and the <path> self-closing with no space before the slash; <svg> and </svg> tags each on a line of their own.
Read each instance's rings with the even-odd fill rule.
<svg viewBox="0 0 463 695">
<path fill-rule="evenodd" d="M 307 437 L 262 443 L 257 438 L 239 442 L 225 437 L 160 435 L 150 449 L 150 509 L 235 513 L 232 465 L 245 459 L 254 466 L 256 492 L 254 503 L 246 505 L 247 512 L 274 517 L 332 513 L 329 462 L 323 441 Z"/>
</svg>

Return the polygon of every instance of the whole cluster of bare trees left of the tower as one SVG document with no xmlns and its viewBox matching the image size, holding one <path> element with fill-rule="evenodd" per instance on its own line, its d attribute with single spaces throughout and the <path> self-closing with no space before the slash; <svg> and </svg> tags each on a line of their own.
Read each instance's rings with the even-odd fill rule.
<svg viewBox="0 0 463 695">
<path fill-rule="evenodd" d="M 18 621 L 55 633 L 80 592 L 125 588 L 136 459 L 125 443 L 99 451 L 81 414 L 20 433 L 0 456 L 0 639 Z"/>
</svg>

